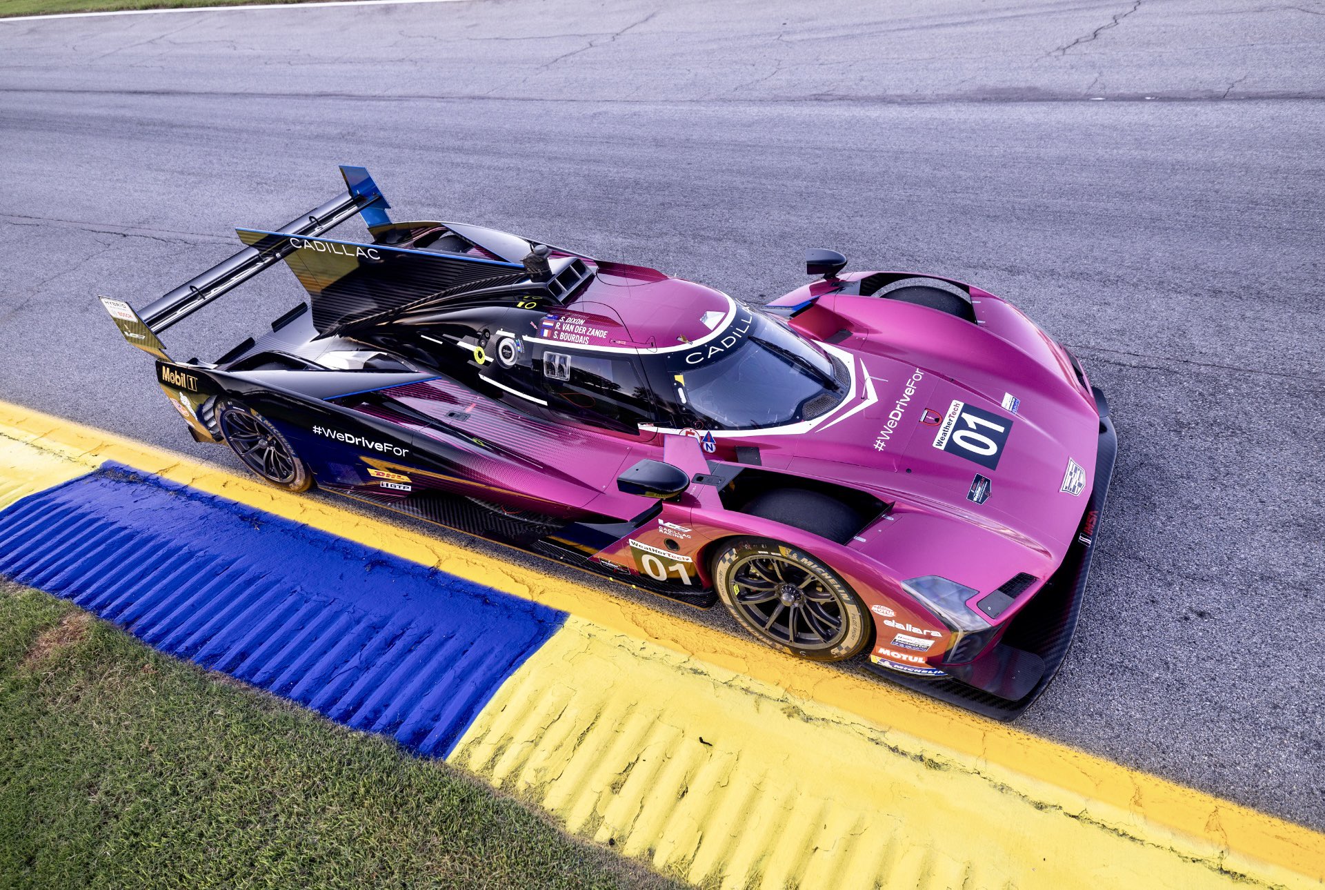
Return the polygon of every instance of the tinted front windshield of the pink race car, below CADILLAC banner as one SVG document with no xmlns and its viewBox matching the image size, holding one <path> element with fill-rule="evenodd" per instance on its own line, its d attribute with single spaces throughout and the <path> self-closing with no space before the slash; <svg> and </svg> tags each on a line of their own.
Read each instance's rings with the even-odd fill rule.
<svg viewBox="0 0 1325 890">
<path fill-rule="evenodd" d="M 745 313 L 742 313 L 745 314 Z M 828 356 L 778 321 L 749 313 L 733 334 L 666 362 L 669 380 L 655 392 L 696 429 L 758 429 L 819 416 L 845 387 Z"/>
</svg>

